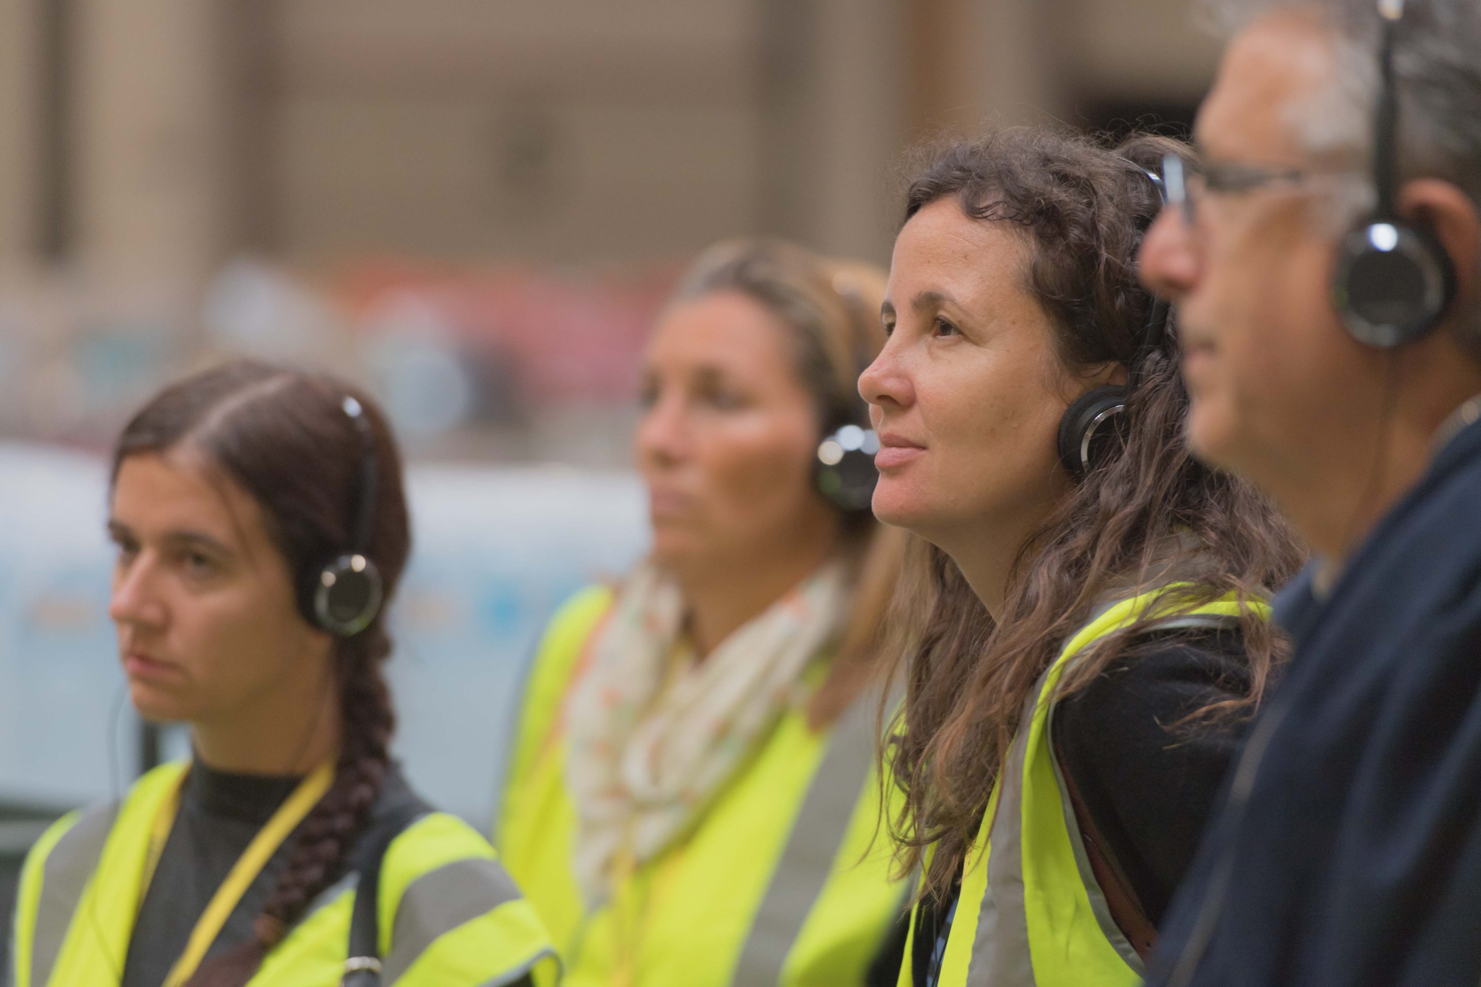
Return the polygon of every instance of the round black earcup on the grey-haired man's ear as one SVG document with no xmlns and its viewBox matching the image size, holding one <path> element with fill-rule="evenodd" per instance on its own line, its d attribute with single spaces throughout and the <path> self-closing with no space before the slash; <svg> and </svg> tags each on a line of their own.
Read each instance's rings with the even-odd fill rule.
<svg viewBox="0 0 1481 987">
<path fill-rule="evenodd" d="M 1419 339 L 1456 293 L 1456 269 L 1425 229 L 1376 220 L 1351 231 L 1337 249 L 1331 300 L 1348 333 L 1368 346 Z"/>
</svg>

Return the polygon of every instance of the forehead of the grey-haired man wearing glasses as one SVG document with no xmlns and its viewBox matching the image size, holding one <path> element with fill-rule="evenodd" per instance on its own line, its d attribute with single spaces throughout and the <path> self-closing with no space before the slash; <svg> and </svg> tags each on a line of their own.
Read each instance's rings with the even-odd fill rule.
<svg viewBox="0 0 1481 987">
<path fill-rule="evenodd" d="M 1334 58 L 1331 31 L 1311 12 L 1253 21 L 1225 50 L 1198 111 L 1198 145 L 1213 160 L 1300 163 L 1291 107 L 1330 83 Z"/>
</svg>

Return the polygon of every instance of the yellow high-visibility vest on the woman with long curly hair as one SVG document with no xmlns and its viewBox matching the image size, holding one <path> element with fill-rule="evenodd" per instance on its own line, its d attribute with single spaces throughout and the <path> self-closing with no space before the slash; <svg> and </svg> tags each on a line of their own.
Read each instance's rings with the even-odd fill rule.
<svg viewBox="0 0 1481 987">
<path fill-rule="evenodd" d="M 1263 602 L 1229 596 L 1179 607 L 1167 590 L 1105 608 L 1040 676 L 963 873 L 939 987 L 1134 987 L 1143 966 L 1111 917 L 1050 741 L 1054 690 L 1075 656 L 1149 608 L 1157 629 L 1228 626 Z M 906 953 L 905 969 L 911 957 Z M 909 983 L 902 975 L 902 983 Z"/>
</svg>

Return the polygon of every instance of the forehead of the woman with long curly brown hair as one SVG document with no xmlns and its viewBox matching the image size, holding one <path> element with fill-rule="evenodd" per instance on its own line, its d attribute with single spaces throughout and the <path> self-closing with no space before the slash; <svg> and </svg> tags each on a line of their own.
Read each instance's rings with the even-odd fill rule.
<svg viewBox="0 0 1481 987">
<path fill-rule="evenodd" d="M 939 198 L 895 238 L 886 294 L 902 309 L 918 292 L 939 290 L 963 303 L 1016 292 L 1023 256 L 1023 237 L 1007 223 L 972 219 L 955 197 Z"/>
</svg>

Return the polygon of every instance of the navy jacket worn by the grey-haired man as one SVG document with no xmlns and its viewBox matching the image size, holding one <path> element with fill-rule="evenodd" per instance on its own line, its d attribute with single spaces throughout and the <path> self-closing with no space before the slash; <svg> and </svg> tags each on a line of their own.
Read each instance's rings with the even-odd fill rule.
<svg viewBox="0 0 1481 987">
<path fill-rule="evenodd" d="M 1152 987 L 1481 983 L 1481 423 L 1318 602 L 1179 891 Z"/>
</svg>

